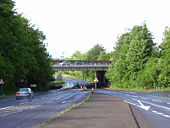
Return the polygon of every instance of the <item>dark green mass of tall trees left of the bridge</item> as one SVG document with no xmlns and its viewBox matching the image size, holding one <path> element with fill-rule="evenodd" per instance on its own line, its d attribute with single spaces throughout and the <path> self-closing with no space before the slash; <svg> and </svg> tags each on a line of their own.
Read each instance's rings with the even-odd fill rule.
<svg viewBox="0 0 170 128">
<path fill-rule="evenodd" d="M 14 10 L 12 0 L 0 1 L 0 77 L 3 91 L 37 84 L 47 90 L 52 79 L 50 57 L 43 41 L 44 34 Z"/>
</svg>

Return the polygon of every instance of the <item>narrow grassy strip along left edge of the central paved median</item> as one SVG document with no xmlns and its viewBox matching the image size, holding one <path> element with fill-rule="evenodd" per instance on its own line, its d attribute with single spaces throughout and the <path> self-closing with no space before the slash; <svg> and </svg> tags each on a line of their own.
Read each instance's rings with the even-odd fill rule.
<svg viewBox="0 0 170 128">
<path fill-rule="evenodd" d="M 81 104 L 83 104 L 84 102 L 88 101 L 89 98 L 90 98 L 90 96 L 91 96 L 91 94 L 92 94 L 92 93 L 90 92 L 89 95 L 87 96 L 87 98 L 86 98 L 85 100 L 81 101 L 81 102 L 78 103 L 78 104 L 73 105 L 72 107 L 70 107 L 70 108 L 68 108 L 68 109 L 66 109 L 66 110 L 64 110 L 64 111 L 62 111 L 62 112 L 59 113 L 57 116 L 53 116 L 53 117 L 51 118 L 51 120 L 48 120 L 47 122 L 44 122 L 44 123 L 40 124 L 37 128 L 42 128 L 42 127 L 44 127 L 45 125 L 47 125 L 47 123 L 50 123 L 51 121 L 59 118 L 60 116 L 62 116 L 62 115 L 65 114 L 66 112 L 70 112 L 72 109 L 74 109 L 74 108 L 80 106 Z"/>
</svg>

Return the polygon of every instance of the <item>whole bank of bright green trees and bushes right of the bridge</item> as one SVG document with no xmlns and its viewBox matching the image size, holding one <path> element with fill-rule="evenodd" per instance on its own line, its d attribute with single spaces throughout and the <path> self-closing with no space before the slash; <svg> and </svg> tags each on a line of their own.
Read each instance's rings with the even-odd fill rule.
<svg viewBox="0 0 170 128">
<path fill-rule="evenodd" d="M 166 28 L 159 51 L 146 24 L 134 26 L 116 43 L 106 77 L 111 87 L 170 87 L 170 29 Z"/>
</svg>

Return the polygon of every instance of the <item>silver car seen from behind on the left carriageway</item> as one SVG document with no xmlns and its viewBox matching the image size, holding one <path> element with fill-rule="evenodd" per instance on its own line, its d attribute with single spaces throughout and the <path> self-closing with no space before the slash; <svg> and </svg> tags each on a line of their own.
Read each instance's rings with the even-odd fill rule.
<svg viewBox="0 0 170 128">
<path fill-rule="evenodd" d="M 16 92 L 16 100 L 22 99 L 22 98 L 33 98 L 33 91 L 30 88 L 20 88 Z"/>
</svg>

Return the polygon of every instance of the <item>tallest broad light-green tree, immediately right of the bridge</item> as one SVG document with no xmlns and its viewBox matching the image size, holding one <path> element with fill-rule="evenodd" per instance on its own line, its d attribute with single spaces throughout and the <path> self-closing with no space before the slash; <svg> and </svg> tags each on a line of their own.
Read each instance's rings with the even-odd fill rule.
<svg viewBox="0 0 170 128">
<path fill-rule="evenodd" d="M 106 73 L 111 86 L 136 87 L 138 75 L 153 55 L 154 46 L 152 35 L 146 24 L 134 26 L 132 30 L 120 36 L 113 54 L 114 59 Z"/>
</svg>

